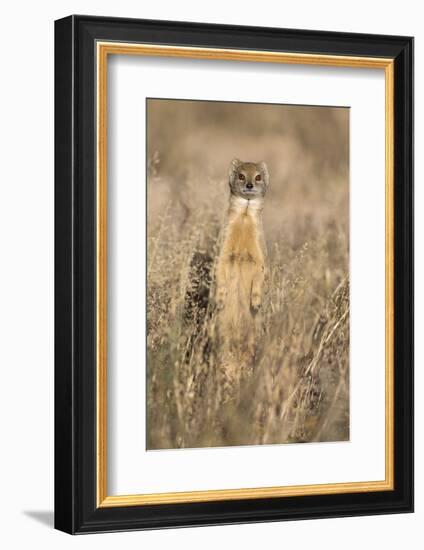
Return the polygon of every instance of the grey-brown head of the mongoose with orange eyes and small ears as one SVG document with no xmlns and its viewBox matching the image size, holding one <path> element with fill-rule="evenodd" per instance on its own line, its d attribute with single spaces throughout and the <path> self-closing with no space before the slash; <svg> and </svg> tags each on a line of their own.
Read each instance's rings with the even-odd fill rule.
<svg viewBox="0 0 424 550">
<path fill-rule="evenodd" d="M 265 162 L 242 162 L 234 159 L 230 164 L 229 184 L 231 193 L 243 199 L 264 197 L 269 182 Z"/>
</svg>

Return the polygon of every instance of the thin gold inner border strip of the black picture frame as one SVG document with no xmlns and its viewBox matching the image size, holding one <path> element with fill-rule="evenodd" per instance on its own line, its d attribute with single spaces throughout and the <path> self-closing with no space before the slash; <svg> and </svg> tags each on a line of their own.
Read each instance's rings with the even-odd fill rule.
<svg viewBox="0 0 424 550">
<path fill-rule="evenodd" d="M 158 46 L 122 42 L 96 44 L 97 54 L 97 506 L 137 506 L 388 491 L 394 489 L 394 60 L 254 50 Z M 107 493 L 107 61 L 109 55 L 144 55 L 192 59 L 255 61 L 385 71 L 385 479 L 315 485 L 214 489 L 177 493 L 114 495 Z"/>
</svg>

